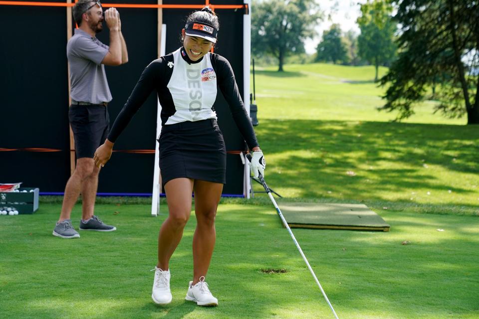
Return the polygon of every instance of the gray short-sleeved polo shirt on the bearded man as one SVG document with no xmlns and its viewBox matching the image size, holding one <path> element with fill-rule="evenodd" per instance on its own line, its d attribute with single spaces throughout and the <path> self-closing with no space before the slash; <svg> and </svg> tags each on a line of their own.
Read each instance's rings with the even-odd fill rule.
<svg viewBox="0 0 479 319">
<path fill-rule="evenodd" d="M 111 101 L 105 66 L 101 64 L 107 53 L 108 45 L 81 29 L 75 29 L 66 45 L 73 100 L 92 104 Z"/>
</svg>

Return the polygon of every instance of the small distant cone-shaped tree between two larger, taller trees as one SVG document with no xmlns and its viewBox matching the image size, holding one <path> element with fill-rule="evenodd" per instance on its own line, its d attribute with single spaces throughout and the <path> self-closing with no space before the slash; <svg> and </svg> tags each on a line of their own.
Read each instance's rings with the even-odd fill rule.
<svg viewBox="0 0 479 319">
<path fill-rule="evenodd" d="M 317 48 L 316 61 L 348 62 L 346 45 L 341 40 L 341 27 L 339 24 L 331 25 L 329 30 L 323 32 L 323 39 Z"/>
</svg>

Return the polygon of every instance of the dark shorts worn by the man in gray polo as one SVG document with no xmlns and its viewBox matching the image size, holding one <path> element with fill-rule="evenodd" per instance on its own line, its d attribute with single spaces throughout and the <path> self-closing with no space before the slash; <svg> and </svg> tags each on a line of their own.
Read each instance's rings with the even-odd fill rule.
<svg viewBox="0 0 479 319">
<path fill-rule="evenodd" d="M 103 105 L 70 105 L 68 111 L 75 139 L 76 158 L 91 158 L 110 130 L 108 109 Z"/>
</svg>

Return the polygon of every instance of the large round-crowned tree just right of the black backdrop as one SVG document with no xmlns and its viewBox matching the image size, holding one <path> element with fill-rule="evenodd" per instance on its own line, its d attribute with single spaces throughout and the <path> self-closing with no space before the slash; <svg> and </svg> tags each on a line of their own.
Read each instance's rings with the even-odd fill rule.
<svg viewBox="0 0 479 319">
<path fill-rule="evenodd" d="M 314 0 L 264 0 L 252 5 L 251 47 L 271 54 L 283 71 L 286 56 L 304 52 L 304 40 L 315 34 L 320 14 Z"/>
</svg>

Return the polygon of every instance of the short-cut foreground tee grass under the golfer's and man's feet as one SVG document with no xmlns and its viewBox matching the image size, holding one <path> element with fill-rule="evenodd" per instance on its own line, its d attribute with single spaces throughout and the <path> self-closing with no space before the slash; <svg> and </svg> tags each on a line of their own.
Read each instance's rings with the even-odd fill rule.
<svg viewBox="0 0 479 319">
<path fill-rule="evenodd" d="M 100 204 L 116 232 L 62 240 L 51 236 L 59 209 L 43 203 L 31 216 L 1 216 L 0 318 L 333 318 L 270 206 L 220 206 L 208 277 L 218 308 L 184 301 L 194 215 L 170 265 L 173 302 L 157 306 L 149 270 L 165 213 Z M 477 217 L 380 215 L 391 232 L 294 229 L 339 318 L 478 318 Z"/>
</svg>

